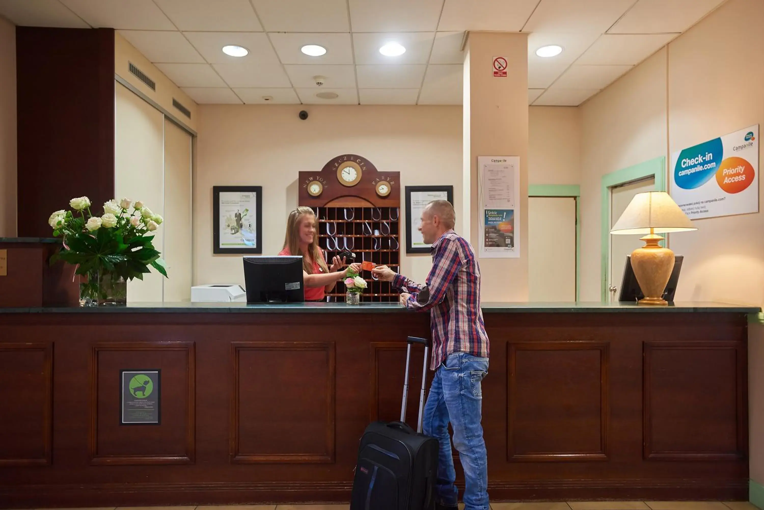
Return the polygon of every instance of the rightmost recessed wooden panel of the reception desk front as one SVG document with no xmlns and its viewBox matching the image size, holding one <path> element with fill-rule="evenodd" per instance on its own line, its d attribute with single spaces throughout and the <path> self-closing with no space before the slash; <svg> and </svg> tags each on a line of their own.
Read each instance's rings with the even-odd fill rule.
<svg viewBox="0 0 764 510">
<path fill-rule="evenodd" d="M 734 460 L 747 453 L 741 380 L 746 353 L 735 342 L 645 343 L 645 456 Z"/>
</svg>

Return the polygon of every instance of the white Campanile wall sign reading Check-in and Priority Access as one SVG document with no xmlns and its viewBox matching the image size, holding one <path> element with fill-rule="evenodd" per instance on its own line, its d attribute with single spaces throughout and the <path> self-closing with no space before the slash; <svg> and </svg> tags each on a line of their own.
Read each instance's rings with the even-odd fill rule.
<svg viewBox="0 0 764 510">
<path fill-rule="evenodd" d="M 671 195 L 690 219 L 759 212 L 759 125 L 672 154 Z"/>
</svg>

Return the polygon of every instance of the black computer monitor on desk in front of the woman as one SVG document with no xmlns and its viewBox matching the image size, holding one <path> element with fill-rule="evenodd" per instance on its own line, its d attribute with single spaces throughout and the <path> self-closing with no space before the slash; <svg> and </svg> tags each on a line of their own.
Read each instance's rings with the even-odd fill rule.
<svg viewBox="0 0 764 510">
<path fill-rule="evenodd" d="M 244 257 L 248 303 L 292 303 L 305 300 L 303 257 Z"/>
</svg>

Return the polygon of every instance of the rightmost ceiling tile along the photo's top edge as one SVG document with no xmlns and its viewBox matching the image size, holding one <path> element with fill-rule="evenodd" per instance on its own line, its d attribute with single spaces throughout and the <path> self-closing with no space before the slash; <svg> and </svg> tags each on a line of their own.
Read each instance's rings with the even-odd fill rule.
<svg viewBox="0 0 764 510">
<path fill-rule="evenodd" d="M 639 0 L 608 34 L 683 32 L 719 5 L 721 0 Z"/>
</svg>

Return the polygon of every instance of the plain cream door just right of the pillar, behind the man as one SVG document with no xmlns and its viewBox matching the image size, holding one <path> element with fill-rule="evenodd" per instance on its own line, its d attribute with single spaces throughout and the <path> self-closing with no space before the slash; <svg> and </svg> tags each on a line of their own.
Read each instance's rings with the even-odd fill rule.
<svg viewBox="0 0 764 510">
<path fill-rule="evenodd" d="M 531 301 L 575 301 L 575 198 L 529 197 Z"/>
</svg>

